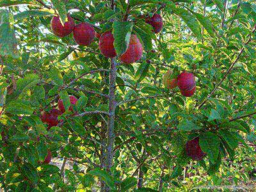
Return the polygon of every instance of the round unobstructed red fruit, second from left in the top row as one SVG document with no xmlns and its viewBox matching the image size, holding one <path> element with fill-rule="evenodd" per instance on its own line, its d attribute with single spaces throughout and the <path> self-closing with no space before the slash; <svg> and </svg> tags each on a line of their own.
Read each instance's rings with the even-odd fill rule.
<svg viewBox="0 0 256 192">
<path fill-rule="evenodd" d="M 73 30 L 74 39 L 79 45 L 89 45 L 95 37 L 95 31 L 91 24 L 77 24 Z"/>
</svg>

